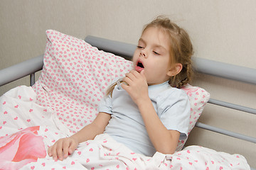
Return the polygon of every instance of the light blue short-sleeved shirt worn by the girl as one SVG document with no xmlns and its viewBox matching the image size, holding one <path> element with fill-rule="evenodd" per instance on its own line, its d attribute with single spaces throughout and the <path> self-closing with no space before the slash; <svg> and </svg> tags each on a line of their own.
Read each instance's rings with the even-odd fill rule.
<svg viewBox="0 0 256 170">
<path fill-rule="evenodd" d="M 185 140 L 188 136 L 190 118 L 190 103 L 186 93 L 172 88 L 166 81 L 163 84 L 149 86 L 149 98 L 165 127 L 181 132 L 180 140 Z M 149 157 L 154 155 L 156 149 L 146 132 L 139 108 L 122 87 L 115 86 L 112 97 L 105 97 L 98 111 L 111 114 L 105 133 L 134 152 Z"/>
</svg>

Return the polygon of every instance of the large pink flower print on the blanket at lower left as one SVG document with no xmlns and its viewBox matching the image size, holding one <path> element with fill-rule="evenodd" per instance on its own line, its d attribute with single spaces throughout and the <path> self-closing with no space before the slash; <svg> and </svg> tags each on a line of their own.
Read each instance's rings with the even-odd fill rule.
<svg viewBox="0 0 256 170">
<path fill-rule="evenodd" d="M 22 166 L 46 157 L 39 126 L 26 128 L 13 135 L 0 137 L 0 169 L 20 169 Z"/>
</svg>

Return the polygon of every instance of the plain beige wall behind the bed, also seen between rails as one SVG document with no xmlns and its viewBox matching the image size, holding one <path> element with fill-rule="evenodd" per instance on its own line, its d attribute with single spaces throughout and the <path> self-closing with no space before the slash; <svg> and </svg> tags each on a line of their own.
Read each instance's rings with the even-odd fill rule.
<svg viewBox="0 0 256 170">
<path fill-rule="evenodd" d="M 47 29 L 82 39 L 97 35 L 136 44 L 142 26 L 159 14 L 166 14 L 188 30 L 196 57 L 256 68 L 254 0 L 1 0 L 0 69 L 43 54 Z M 19 84 L 28 85 L 28 78 L 1 86 L 0 95 Z M 196 79 L 193 84 L 208 90 L 213 98 L 255 108 L 256 88 L 250 84 L 213 77 Z M 256 118 L 251 115 L 208 105 L 201 122 L 256 137 Z M 206 130 L 195 129 L 192 134 L 189 145 L 238 152 L 256 167 L 255 145 Z"/>
</svg>

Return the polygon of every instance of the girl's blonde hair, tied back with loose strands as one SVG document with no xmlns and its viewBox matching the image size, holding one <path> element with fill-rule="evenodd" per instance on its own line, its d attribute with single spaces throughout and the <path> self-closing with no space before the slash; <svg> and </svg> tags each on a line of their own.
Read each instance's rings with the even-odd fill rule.
<svg viewBox="0 0 256 170">
<path fill-rule="evenodd" d="M 170 40 L 170 56 L 172 66 L 176 63 L 182 64 L 181 72 L 176 74 L 174 77 L 170 77 L 169 84 L 170 86 L 181 88 L 191 82 L 193 76 L 192 70 L 192 62 L 191 56 L 193 55 L 193 45 L 189 38 L 188 33 L 183 28 L 180 28 L 170 21 L 169 18 L 165 16 L 158 16 L 154 21 L 151 23 L 146 24 L 144 29 L 142 30 L 142 34 L 147 28 L 156 27 L 161 28 L 166 35 L 169 35 Z M 120 82 L 120 81 L 119 81 Z M 117 85 L 117 82 L 112 84 L 109 89 L 107 89 L 106 95 L 111 94 L 114 90 L 114 86 Z"/>
</svg>

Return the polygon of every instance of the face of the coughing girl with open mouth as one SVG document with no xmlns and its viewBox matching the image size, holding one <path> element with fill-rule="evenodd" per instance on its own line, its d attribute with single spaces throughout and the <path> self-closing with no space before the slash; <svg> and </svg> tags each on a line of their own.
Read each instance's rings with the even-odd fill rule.
<svg viewBox="0 0 256 170">
<path fill-rule="evenodd" d="M 149 85 L 161 84 L 172 76 L 169 36 L 159 28 L 144 30 L 133 56 L 134 69 L 146 76 Z"/>
</svg>

